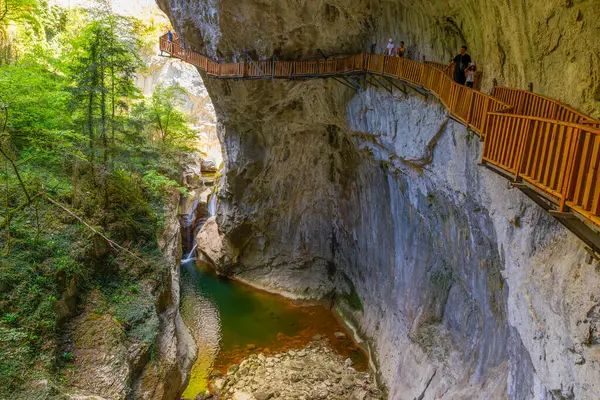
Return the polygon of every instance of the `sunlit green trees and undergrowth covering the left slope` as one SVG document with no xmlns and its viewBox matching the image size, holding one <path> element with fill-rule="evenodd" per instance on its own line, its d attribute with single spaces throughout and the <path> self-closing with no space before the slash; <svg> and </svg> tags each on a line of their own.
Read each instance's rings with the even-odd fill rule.
<svg viewBox="0 0 600 400">
<path fill-rule="evenodd" d="M 32 377 L 76 362 L 60 340 L 81 311 L 69 300 L 97 287 L 110 299 L 98 311 L 128 340 L 155 340 L 147 285 L 161 281 L 162 198 L 185 192 L 176 160 L 193 135 L 180 88 L 146 101 L 134 86 L 136 21 L 105 3 L 6 4 L 0 35 L 12 24 L 16 36 L 0 40 L 0 398 L 18 398 Z"/>
</svg>

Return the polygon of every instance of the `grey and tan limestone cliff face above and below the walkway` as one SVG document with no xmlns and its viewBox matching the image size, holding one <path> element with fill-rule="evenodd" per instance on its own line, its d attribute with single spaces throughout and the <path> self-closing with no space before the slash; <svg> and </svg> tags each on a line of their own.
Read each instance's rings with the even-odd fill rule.
<svg viewBox="0 0 600 400">
<path fill-rule="evenodd" d="M 597 114 L 596 2 L 159 4 L 188 43 L 228 59 L 351 53 L 388 35 L 447 59 L 466 40 L 487 83 L 533 81 Z M 477 137 L 433 98 L 207 84 L 226 165 L 222 243 L 209 246 L 222 273 L 335 300 L 391 399 L 600 396 L 598 273 L 577 239 L 477 166 Z"/>
</svg>

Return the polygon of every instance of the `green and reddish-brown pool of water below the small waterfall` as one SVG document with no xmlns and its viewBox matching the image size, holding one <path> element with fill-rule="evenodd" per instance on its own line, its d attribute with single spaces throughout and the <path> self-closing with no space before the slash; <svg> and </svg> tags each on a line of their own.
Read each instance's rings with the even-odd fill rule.
<svg viewBox="0 0 600 400">
<path fill-rule="evenodd" d="M 280 296 L 236 281 L 222 279 L 195 261 L 182 263 L 182 316 L 198 343 L 198 361 L 184 398 L 207 389 L 213 369 L 225 372 L 251 353 L 301 348 L 311 338 L 327 336 L 336 350 L 366 368 L 364 354 L 350 341 L 338 340 L 343 331 L 324 307 L 301 307 Z"/>
</svg>

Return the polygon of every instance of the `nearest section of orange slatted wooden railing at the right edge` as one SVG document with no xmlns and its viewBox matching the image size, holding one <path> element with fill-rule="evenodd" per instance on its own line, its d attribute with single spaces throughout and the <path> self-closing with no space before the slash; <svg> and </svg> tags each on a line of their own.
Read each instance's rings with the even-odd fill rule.
<svg viewBox="0 0 600 400">
<path fill-rule="evenodd" d="M 490 113 L 483 161 L 514 174 L 547 198 L 600 226 L 600 129 Z"/>
</svg>

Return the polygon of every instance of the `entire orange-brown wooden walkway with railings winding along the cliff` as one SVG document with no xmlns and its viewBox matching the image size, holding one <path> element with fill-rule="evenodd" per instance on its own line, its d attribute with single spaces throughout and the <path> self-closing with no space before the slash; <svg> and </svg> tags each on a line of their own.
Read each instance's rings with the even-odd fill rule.
<svg viewBox="0 0 600 400">
<path fill-rule="evenodd" d="M 425 89 L 480 136 L 483 165 L 511 179 L 578 235 L 594 256 L 600 254 L 600 121 L 569 106 L 520 89 L 496 87 L 487 95 L 454 82 L 443 64 L 378 54 L 220 64 L 166 36 L 160 49 L 213 78 L 334 78 L 354 87 L 342 79 L 367 74 Z"/>
</svg>

